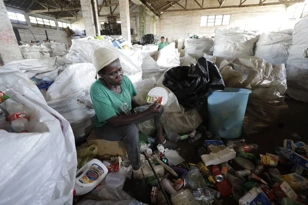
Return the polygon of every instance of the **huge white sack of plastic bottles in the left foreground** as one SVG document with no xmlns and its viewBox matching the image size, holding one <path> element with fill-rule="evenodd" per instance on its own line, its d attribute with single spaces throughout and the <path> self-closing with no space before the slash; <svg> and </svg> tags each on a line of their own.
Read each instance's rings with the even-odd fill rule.
<svg viewBox="0 0 308 205">
<path fill-rule="evenodd" d="M 0 87 L 10 88 L 11 99 L 32 112 L 29 133 L 0 130 L 0 204 L 72 204 L 77 158 L 69 123 L 11 65 L 1 67 Z"/>
</svg>

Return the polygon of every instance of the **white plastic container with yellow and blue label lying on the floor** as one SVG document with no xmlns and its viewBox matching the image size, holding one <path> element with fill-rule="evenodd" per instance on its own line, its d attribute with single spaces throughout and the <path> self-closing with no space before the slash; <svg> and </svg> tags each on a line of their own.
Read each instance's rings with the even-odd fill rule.
<svg viewBox="0 0 308 205">
<path fill-rule="evenodd" d="M 76 195 L 84 195 L 98 186 L 107 176 L 107 167 L 98 159 L 92 159 L 76 173 Z"/>
</svg>

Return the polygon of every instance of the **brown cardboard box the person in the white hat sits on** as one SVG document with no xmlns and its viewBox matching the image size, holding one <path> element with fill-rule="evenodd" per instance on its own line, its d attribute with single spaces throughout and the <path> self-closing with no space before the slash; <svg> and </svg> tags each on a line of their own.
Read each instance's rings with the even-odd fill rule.
<svg viewBox="0 0 308 205">
<path fill-rule="evenodd" d="M 98 146 L 98 155 L 102 156 L 104 154 L 110 154 L 113 156 L 126 156 L 125 144 L 124 141 L 107 141 L 102 138 L 99 138 L 94 134 L 94 131 L 87 138 L 87 144 L 95 144 Z"/>
</svg>

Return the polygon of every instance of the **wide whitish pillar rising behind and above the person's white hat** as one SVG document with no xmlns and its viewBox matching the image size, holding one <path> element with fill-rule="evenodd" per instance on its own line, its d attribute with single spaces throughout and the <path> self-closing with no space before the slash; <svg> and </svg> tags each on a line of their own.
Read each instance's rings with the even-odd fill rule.
<svg viewBox="0 0 308 205">
<path fill-rule="evenodd" d="M 82 17 L 84 19 L 86 35 L 87 36 L 97 36 L 95 24 L 95 14 L 93 12 L 93 6 L 91 4 L 91 0 L 80 0 Z"/>
</svg>

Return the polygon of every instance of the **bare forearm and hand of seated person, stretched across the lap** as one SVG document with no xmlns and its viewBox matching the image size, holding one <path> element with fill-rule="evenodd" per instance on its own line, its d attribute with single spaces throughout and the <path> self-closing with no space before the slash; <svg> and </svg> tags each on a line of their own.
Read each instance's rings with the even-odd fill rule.
<svg viewBox="0 0 308 205">
<path fill-rule="evenodd" d="M 160 107 L 157 107 L 157 106 L 158 106 L 158 103 L 155 102 L 144 112 L 140 112 L 134 115 L 120 115 L 120 116 L 114 115 L 113 117 L 110 117 L 109 119 L 107 119 L 107 122 L 109 125 L 114 126 L 114 127 L 126 125 L 126 124 L 133 122 L 134 120 L 140 119 L 147 115 L 159 113 L 161 109 L 163 108 L 163 106 L 160 106 Z"/>
</svg>

